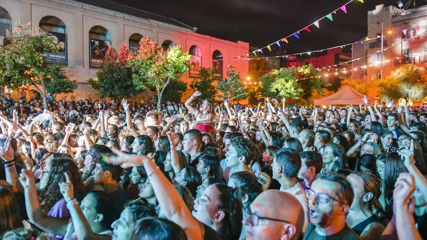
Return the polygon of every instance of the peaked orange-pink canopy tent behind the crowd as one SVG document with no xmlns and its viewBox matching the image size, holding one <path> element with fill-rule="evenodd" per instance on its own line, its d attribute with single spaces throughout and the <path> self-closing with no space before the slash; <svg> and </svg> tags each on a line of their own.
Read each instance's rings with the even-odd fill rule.
<svg viewBox="0 0 427 240">
<path fill-rule="evenodd" d="M 359 105 L 364 104 L 363 96 L 364 95 L 347 85 L 330 96 L 315 99 L 314 105 Z M 366 98 L 368 98 L 370 104 L 374 104 L 375 100 L 377 100 L 378 103 L 380 102 L 378 97 L 366 96 Z"/>
</svg>

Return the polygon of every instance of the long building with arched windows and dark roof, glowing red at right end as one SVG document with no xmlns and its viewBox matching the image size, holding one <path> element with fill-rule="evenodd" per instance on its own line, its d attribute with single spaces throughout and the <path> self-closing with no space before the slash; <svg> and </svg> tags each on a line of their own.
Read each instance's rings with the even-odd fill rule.
<svg viewBox="0 0 427 240">
<path fill-rule="evenodd" d="M 181 45 L 192 55 L 191 70 L 181 80 L 190 83 L 197 78 L 199 67 L 212 67 L 218 76 L 225 76 L 229 58 L 246 54 L 249 44 L 231 42 L 196 33 L 190 27 L 172 18 L 126 7 L 108 0 L 0 0 L 0 44 L 6 30 L 13 24 L 32 23 L 32 29 L 48 31 L 58 42 L 59 54 L 46 53 L 49 59 L 60 60 L 67 75 L 77 80 L 78 89 L 68 99 L 98 98 L 87 83 L 93 78 L 106 49 L 118 49 L 125 42 L 131 51 L 139 48 L 141 37 L 150 36 L 159 48 Z M 236 71 L 247 77 L 248 62 L 234 61 Z M 192 94 L 188 84 L 187 93 Z"/>
</svg>

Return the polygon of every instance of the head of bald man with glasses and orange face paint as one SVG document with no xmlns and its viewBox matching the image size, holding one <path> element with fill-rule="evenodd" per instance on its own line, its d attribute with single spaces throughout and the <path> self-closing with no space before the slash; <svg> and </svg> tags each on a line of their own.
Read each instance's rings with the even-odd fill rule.
<svg viewBox="0 0 427 240">
<path fill-rule="evenodd" d="M 245 209 L 243 224 L 247 240 L 296 240 L 302 232 L 304 211 L 293 195 L 268 190 Z"/>
</svg>

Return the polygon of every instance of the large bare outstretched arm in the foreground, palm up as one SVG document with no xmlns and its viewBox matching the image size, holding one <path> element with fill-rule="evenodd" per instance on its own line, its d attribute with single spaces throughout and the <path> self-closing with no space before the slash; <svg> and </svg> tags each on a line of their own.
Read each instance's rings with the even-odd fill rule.
<svg viewBox="0 0 427 240">
<path fill-rule="evenodd" d="M 118 154 L 117 157 L 111 156 L 104 158 L 104 160 L 115 165 L 121 165 L 123 168 L 144 166 L 166 218 L 178 224 L 185 231 L 189 240 L 201 240 L 201 224 L 192 216 L 181 195 L 162 174 L 156 163 L 147 156 L 129 155 L 119 151 L 115 152 Z"/>
</svg>

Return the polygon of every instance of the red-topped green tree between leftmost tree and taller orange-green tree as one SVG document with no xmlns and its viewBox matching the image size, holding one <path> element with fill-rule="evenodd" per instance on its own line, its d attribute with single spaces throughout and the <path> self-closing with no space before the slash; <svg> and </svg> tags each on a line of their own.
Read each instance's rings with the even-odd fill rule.
<svg viewBox="0 0 427 240">
<path fill-rule="evenodd" d="M 131 56 L 126 43 L 123 43 L 119 52 L 109 47 L 105 55 L 105 62 L 101 64 L 96 74 L 96 80 L 87 81 L 100 97 L 131 97 L 138 94 L 132 80 L 132 69 L 128 66 Z"/>
</svg>

